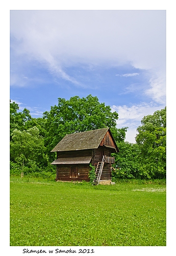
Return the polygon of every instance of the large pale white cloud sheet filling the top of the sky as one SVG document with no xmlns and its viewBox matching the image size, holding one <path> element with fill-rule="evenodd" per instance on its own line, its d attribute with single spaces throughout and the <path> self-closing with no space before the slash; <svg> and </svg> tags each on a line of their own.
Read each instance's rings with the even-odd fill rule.
<svg viewBox="0 0 176 256">
<path fill-rule="evenodd" d="M 12 10 L 10 30 L 16 53 L 79 85 L 63 66 L 131 63 L 164 70 L 165 16 L 163 10 Z"/>
</svg>

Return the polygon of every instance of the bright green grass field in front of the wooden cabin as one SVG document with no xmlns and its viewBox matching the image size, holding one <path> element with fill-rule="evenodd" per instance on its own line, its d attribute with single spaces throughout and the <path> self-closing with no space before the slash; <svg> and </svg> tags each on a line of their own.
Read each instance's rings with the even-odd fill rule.
<svg viewBox="0 0 176 256">
<path fill-rule="evenodd" d="M 10 178 L 11 246 L 166 246 L 166 185 Z"/>
</svg>

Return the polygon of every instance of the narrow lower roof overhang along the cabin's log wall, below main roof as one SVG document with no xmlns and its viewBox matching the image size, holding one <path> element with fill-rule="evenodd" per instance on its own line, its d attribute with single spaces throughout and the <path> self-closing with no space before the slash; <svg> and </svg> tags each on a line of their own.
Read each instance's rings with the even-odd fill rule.
<svg viewBox="0 0 176 256">
<path fill-rule="evenodd" d="M 58 158 L 50 164 L 78 164 L 78 163 L 90 163 L 92 157 L 76 157 L 76 158 Z"/>
</svg>

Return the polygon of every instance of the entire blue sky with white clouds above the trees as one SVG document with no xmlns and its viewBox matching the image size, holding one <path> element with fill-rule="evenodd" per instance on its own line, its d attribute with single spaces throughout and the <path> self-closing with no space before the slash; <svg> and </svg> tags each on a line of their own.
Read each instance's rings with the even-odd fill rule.
<svg viewBox="0 0 176 256">
<path fill-rule="evenodd" d="M 57 98 L 97 96 L 135 142 L 166 106 L 165 10 L 11 10 L 10 98 L 42 117 Z"/>
</svg>

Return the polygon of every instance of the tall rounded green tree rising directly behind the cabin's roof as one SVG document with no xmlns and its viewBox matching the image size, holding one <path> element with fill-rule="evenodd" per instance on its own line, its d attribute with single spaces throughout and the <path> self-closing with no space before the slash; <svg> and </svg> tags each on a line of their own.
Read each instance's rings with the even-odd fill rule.
<svg viewBox="0 0 176 256">
<path fill-rule="evenodd" d="M 100 103 L 98 97 L 88 95 L 69 100 L 58 98 L 58 105 L 44 113 L 46 119 L 45 145 L 48 152 L 66 135 L 99 128 L 116 128 L 118 113 Z M 52 158 L 54 158 L 52 154 Z"/>
</svg>

